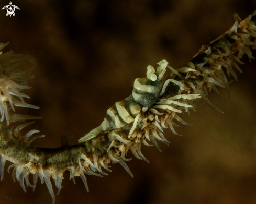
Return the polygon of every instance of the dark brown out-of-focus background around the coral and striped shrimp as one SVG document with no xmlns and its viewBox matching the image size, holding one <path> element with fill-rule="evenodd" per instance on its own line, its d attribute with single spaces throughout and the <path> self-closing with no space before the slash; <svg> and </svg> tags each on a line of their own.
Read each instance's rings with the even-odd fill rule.
<svg viewBox="0 0 256 204">
<path fill-rule="evenodd" d="M 35 78 L 29 80 L 26 102 L 40 106 L 16 112 L 43 117 L 23 133 L 40 130 L 46 137 L 37 142 L 46 148 L 60 147 L 61 135 L 72 136 L 74 145 L 101 124 L 110 106 L 131 94 L 133 81 L 146 74 L 148 65 L 166 59 L 173 67 L 184 66 L 203 44 L 233 26 L 234 13 L 243 19 L 256 9 L 255 0 L 12 3 L 20 10 L 15 17 L 0 10 L 0 41 L 10 41 L 5 52 L 31 56 L 25 69 L 35 66 Z M 0 7 L 8 4 L 1 1 Z M 176 128 L 183 137 L 166 131 L 171 144 L 161 143 L 162 153 L 142 146 L 150 163 L 134 157 L 127 162 L 134 178 L 115 164 L 108 176 L 87 176 L 87 193 L 81 179 L 74 185 L 66 172 L 55 203 L 255 203 L 256 63 L 246 56 L 242 61 L 243 74 L 237 72 L 238 81 L 230 85 L 232 99 L 225 90 L 210 93 L 224 114 L 205 105 L 198 109 L 201 115 L 181 116 L 194 125 Z M 39 181 L 34 193 L 30 187 L 24 193 L 7 166 L 1 204 L 52 202 Z"/>
</svg>

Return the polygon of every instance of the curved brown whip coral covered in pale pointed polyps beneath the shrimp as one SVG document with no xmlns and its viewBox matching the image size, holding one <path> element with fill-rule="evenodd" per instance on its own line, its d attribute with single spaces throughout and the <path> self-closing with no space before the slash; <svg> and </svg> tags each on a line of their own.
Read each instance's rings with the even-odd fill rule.
<svg viewBox="0 0 256 204">
<path fill-rule="evenodd" d="M 133 176 L 123 161 L 129 161 L 129 159 L 125 158 L 125 154 L 129 149 L 131 149 L 132 153 L 138 159 L 148 161 L 141 153 L 141 143 L 149 146 L 146 139 L 149 141 L 151 140 L 159 150 L 160 148 L 157 145 L 156 139 L 168 144 L 168 140 L 166 140 L 161 133 L 163 132 L 162 128 L 168 128 L 169 126 L 173 133 L 178 135 L 173 129 L 173 126 L 176 126 L 173 119 L 176 119 L 185 125 L 189 125 L 183 122 L 177 113 L 188 112 L 188 108 L 195 111 L 196 106 L 192 103 L 193 100 L 202 97 L 203 101 L 212 107 L 212 109 L 219 111 L 209 102 L 207 98 L 207 88 L 214 89 L 218 92 L 215 87 L 215 85 L 218 85 L 225 88 L 230 97 L 229 82 L 224 74 L 224 69 L 227 70 L 227 75 L 230 75 L 231 73 L 235 79 L 237 79 L 231 65 L 240 71 L 236 62 L 243 64 L 239 59 L 243 54 L 247 54 L 249 58 L 254 59 L 250 51 L 250 45 L 252 45 L 252 48 L 256 45 L 256 43 L 254 43 L 254 37 L 256 37 L 254 18 L 255 16 L 251 17 L 250 15 L 248 18 L 241 20 L 240 17 L 235 14 L 236 23 L 233 27 L 221 37 L 212 41 L 208 46 L 202 46 L 200 52 L 193 57 L 190 63 L 187 63 L 185 67 L 176 70 L 170 67 L 173 73 L 171 73 L 165 80 L 163 85 L 164 88 L 161 93 L 158 94 L 159 99 L 152 102 L 151 104 L 154 104 L 149 107 L 149 109 L 135 115 L 136 118 L 133 125 L 130 123 L 114 130 L 104 131 L 102 134 L 95 135 L 95 138 L 85 142 L 83 141 L 84 146 L 71 146 L 69 148 L 67 147 L 67 142 L 63 138 L 62 148 L 55 150 L 34 148 L 29 146 L 31 141 L 27 139 L 31 134 L 29 135 L 28 133 L 25 136 L 20 134 L 18 128 L 22 129 L 22 125 L 18 126 L 13 132 L 10 130 L 10 133 L 8 133 L 7 124 L 14 121 L 35 118 L 27 118 L 17 114 L 10 114 L 9 116 L 9 113 L 6 111 L 6 104 L 10 104 L 10 106 L 12 106 L 13 103 L 16 106 L 34 106 L 26 105 L 23 102 L 15 102 L 16 99 L 10 98 L 10 95 L 8 97 L 7 91 L 12 89 L 12 92 L 15 93 L 14 95 L 18 95 L 20 100 L 23 101 L 21 96 L 19 96 L 20 94 L 16 91 L 16 88 L 12 88 L 14 85 L 16 86 L 17 83 L 12 85 L 12 83 L 8 81 L 9 78 L 20 80 L 17 75 L 22 76 L 22 73 L 19 74 L 18 72 L 13 74 L 16 72 L 17 68 L 12 65 L 12 63 L 17 61 L 20 56 L 14 55 L 11 52 L 2 55 L 2 66 L 4 66 L 3 70 L 6 71 L 3 72 L 3 74 L 6 75 L 8 79 L 3 78 L 6 81 L 3 82 L 6 83 L 6 88 L 2 88 L 2 136 L 0 146 L 1 179 L 3 178 L 5 160 L 9 160 L 14 163 L 14 165 L 12 165 L 12 167 L 14 167 L 13 176 L 15 175 L 15 178 L 20 182 L 20 185 L 24 190 L 24 179 L 27 185 L 35 188 L 39 176 L 42 183 L 44 181 L 46 182 L 54 203 L 54 194 L 50 178 L 52 177 L 54 179 L 55 185 L 59 189 L 59 194 L 63 172 L 66 170 L 70 171 L 70 178 L 72 179 L 74 179 L 74 176 L 81 176 L 87 191 L 88 186 L 84 174 L 99 176 L 99 174 L 95 173 L 98 171 L 99 173 L 106 175 L 101 167 L 110 171 L 108 169 L 108 167 L 110 167 L 108 166 L 110 161 L 112 161 L 112 163 L 120 163 L 126 171 Z M 237 57 L 233 55 L 236 52 L 239 52 Z M 165 73 L 164 69 L 168 67 L 167 65 L 168 63 L 166 61 L 161 61 L 155 66 L 156 73 L 158 73 L 157 77 L 160 77 L 161 74 L 159 73 Z M 9 70 L 12 70 L 13 72 L 9 72 Z M 177 73 L 177 70 L 179 70 L 179 73 Z M 161 78 L 162 76 L 163 74 L 161 75 Z M 26 79 L 22 78 L 22 81 Z M 24 85 L 20 87 L 22 88 L 23 86 Z M 142 87 L 147 86 L 150 85 L 139 85 L 137 88 L 135 83 L 134 88 L 140 90 Z M 141 90 L 148 89 L 142 88 Z M 150 88 L 150 90 L 152 89 Z M 141 95 L 144 96 L 145 93 L 141 92 Z M 135 95 L 132 96 L 135 97 Z M 9 106 L 8 109 L 10 109 Z M 119 112 L 121 118 L 123 118 L 122 114 Z M 13 115 L 17 119 L 14 119 Z M 27 176 L 29 173 L 34 174 L 34 185 L 31 185 L 28 182 Z"/>
</svg>

